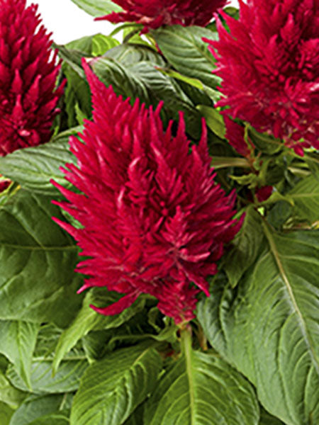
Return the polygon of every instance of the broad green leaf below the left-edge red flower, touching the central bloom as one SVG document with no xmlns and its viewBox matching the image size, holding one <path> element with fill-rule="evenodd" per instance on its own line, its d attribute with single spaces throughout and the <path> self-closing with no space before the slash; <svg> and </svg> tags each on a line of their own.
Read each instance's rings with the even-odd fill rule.
<svg viewBox="0 0 319 425">
<path fill-rule="evenodd" d="M 68 137 L 37 147 L 18 149 L 6 157 L 0 157 L 0 173 L 35 193 L 57 196 L 57 189 L 50 179 L 69 188 L 61 166 L 74 163 L 75 157 L 69 152 Z"/>
</svg>

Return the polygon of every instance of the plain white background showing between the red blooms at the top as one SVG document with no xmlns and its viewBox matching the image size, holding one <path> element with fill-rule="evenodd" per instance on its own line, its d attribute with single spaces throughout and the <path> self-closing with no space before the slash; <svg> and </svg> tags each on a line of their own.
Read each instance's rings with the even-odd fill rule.
<svg viewBox="0 0 319 425">
<path fill-rule="evenodd" d="M 92 35 L 103 33 L 108 35 L 113 25 L 107 21 L 94 21 L 93 16 L 88 15 L 77 7 L 71 0 L 27 0 L 27 4 L 39 5 L 39 12 L 43 18 L 43 24 L 48 32 L 52 32 L 52 38 L 57 44 Z M 230 4 L 237 6 L 237 0 L 231 0 Z"/>
</svg>

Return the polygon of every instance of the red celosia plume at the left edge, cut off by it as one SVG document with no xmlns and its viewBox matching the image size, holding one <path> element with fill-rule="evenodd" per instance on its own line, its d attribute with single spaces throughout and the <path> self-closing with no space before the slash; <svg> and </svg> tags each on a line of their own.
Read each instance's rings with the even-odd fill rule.
<svg viewBox="0 0 319 425">
<path fill-rule="evenodd" d="M 62 86 L 38 6 L 0 0 L 0 156 L 47 142 Z M 38 29 L 37 29 L 38 28 Z"/>
</svg>

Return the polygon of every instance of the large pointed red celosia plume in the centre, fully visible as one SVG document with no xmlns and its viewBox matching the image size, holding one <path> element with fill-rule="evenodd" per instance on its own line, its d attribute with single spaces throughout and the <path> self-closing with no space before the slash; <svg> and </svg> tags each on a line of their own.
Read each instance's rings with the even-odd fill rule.
<svg viewBox="0 0 319 425">
<path fill-rule="evenodd" d="M 94 307 L 102 314 L 117 314 L 148 293 L 176 322 L 190 320 L 196 294 L 209 295 L 206 277 L 216 273 L 223 245 L 240 229 L 235 193 L 225 196 L 214 181 L 205 127 L 189 153 L 182 115 L 173 137 L 172 123 L 163 130 L 161 105 L 154 112 L 137 100 L 132 107 L 84 67 L 94 121 L 86 121 L 82 140 L 70 138 L 78 165 L 63 170 L 82 194 L 54 183 L 69 200 L 57 205 L 82 224 L 56 220 L 90 257 L 77 268 L 91 276 L 81 290 L 125 294 L 114 305 Z"/>
</svg>

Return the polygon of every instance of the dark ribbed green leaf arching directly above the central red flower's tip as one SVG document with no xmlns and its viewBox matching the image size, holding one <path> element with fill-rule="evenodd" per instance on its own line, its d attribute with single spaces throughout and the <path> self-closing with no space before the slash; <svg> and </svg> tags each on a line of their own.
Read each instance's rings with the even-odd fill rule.
<svg viewBox="0 0 319 425">
<path fill-rule="evenodd" d="M 151 62 L 124 66 L 121 62 L 104 57 L 96 60 L 92 67 L 104 84 L 112 84 L 117 94 L 140 98 L 147 106 L 155 108 L 159 101 L 164 101 L 162 118 L 166 122 L 178 119 L 178 111 L 184 111 L 187 132 L 194 139 L 201 137 L 201 114 L 174 79 L 159 72 Z"/>
</svg>

